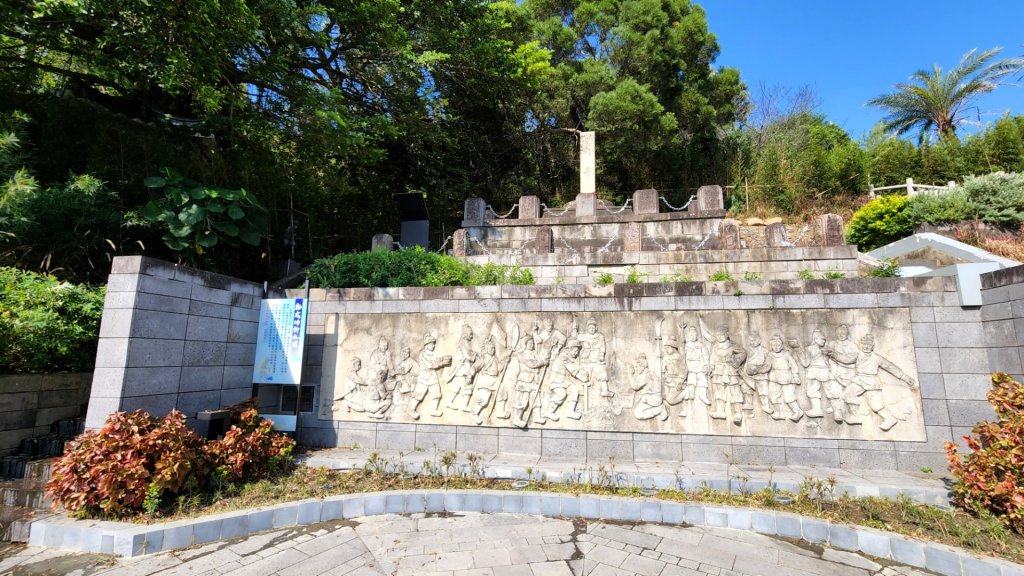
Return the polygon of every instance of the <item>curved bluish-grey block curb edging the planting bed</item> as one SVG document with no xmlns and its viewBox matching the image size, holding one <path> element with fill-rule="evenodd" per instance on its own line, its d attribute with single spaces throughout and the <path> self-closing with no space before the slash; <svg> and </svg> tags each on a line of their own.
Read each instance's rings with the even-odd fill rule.
<svg viewBox="0 0 1024 576">
<path fill-rule="evenodd" d="M 572 496 L 492 490 L 410 490 L 346 494 L 139 526 L 68 518 L 35 522 L 29 543 L 137 557 L 274 528 L 383 513 L 508 512 L 546 517 L 689 524 L 750 530 L 925 568 L 950 576 L 1024 576 L 1024 566 L 979 558 L 943 544 L 799 515 L 702 503 L 618 496 Z"/>
</svg>

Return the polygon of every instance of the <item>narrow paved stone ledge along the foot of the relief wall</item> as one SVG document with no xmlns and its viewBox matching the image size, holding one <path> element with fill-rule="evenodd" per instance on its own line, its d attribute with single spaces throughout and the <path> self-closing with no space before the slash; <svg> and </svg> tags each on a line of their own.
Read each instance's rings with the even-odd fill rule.
<svg viewBox="0 0 1024 576">
<path fill-rule="evenodd" d="M 397 470 L 420 474 L 424 462 L 440 459 L 438 451 L 399 452 L 397 450 L 367 450 L 331 448 L 301 456 L 299 461 L 309 466 L 332 469 L 361 469 L 372 455 Z M 835 479 L 837 494 L 855 497 L 881 496 L 896 498 L 904 495 L 925 504 L 948 506 L 949 489 L 943 479 L 929 478 L 898 470 L 850 470 L 818 466 L 755 466 L 714 462 L 615 462 L 614 460 L 571 461 L 538 458 L 514 454 L 481 454 L 480 466 L 487 478 L 541 479 L 551 482 L 602 482 L 608 478 L 621 486 L 641 488 L 679 488 L 682 490 L 750 490 L 757 491 L 769 484 L 776 490 L 799 492 L 808 481 L 826 482 Z M 469 469 L 468 453 L 457 453 L 458 465 Z"/>
</svg>

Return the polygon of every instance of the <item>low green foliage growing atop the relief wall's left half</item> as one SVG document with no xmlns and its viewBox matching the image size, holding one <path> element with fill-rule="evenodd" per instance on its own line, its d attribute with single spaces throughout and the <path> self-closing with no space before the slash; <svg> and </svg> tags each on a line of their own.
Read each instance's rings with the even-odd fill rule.
<svg viewBox="0 0 1024 576">
<path fill-rule="evenodd" d="M 420 248 L 338 254 L 305 271 L 315 288 L 534 284 L 529 269 L 477 264 Z"/>
</svg>

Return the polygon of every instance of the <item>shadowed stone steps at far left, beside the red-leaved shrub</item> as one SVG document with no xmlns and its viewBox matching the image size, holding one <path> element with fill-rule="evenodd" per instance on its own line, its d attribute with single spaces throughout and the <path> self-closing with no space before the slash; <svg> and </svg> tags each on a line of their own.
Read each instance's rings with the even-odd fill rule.
<svg viewBox="0 0 1024 576">
<path fill-rule="evenodd" d="M 26 439 L 17 453 L 0 457 L 0 541 L 27 542 L 32 522 L 52 515 L 44 488 L 53 461 L 84 424 L 81 418 L 59 420 L 50 434 Z"/>
</svg>

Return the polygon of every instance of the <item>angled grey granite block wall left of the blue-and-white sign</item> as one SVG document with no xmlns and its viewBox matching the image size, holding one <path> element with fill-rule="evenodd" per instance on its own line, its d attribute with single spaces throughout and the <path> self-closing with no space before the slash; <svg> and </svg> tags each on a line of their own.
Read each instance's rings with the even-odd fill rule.
<svg viewBox="0 0 1024 576">
<path fill-rule="evenodd" d="M 86 415 L 163 415 L 252 396 L 262 285 L 146 258 L 114 258 Z"/>
</svg>

